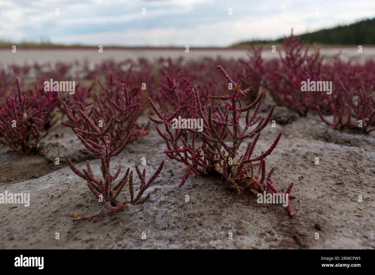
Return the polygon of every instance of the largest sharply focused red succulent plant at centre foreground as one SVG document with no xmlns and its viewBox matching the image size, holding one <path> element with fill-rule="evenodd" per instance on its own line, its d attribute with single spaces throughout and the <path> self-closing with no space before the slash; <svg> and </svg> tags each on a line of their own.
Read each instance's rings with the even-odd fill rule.
<svg viewBox="0 0 375 275">
<path fill-rule="evenodd" d="M 168 111 L 166 115 L 163 115 L 151 98 L 149 98 L 150 105 L 159 119 L 154 119 L 151 116 L 148 116 L 148 118 L 156 124 L 164 125 L 165 132 L 160 131 L 157 125 L 155 127 L 160 137 L 165 140 L 168 149 L 164 151 L 166 156 L 186 165 L 186 171 L 179 187 L 183 186 L 190 172 L 192 172 L 196 175 L 219 174 L 225 180 L 226 187 L 236 189 L 238 194 L 244 188 L 249 189 L 252 186 L 263 192 L 264 188 L 267 189 L 267 181 L 272 185 L 271 175 L 275 168 L 270 172 L 267 181 L 265 181 L 264 173 L 262 173 L 261 181 L 257 181 L 254 175 L 254 165 L 264 163 L 261 166 L 265 171 L 264 159 L 275 149 L 282 132 L 278 134 L 272 146 L 266 152 L 262 151 L 256 157 L 253 157 L 253 152 L 261 131 L 272 117 L 275 104 L 271 107 L 267 117 L 258 116 L 264 92 L 261 92 L 253 103 L 242 106 L 240 98 L 245 97 L 250 89 L 241 90 L 241 79 L 238 83 L 235 83 L 221 66 L 218 66 L 217 69 L 230 84 L 229 86 L 233 87 L 232 94 L 209 96 L 211 99 L 223 101 L 223 106 L 213 108 L 208 105 L 206 107 L 201 104 L 198 89 L 194 86 L 194 94 L 191 96 L 192 113 L 193 118 L 202 121 L 202 131 L 173 127 L 173 120 L 179 115 L 179 109 L 173 113 Z M 252 109 L 254 111 L 251 112 Z M 245 126 L 242 128 L 240 118 L 243 114 L 245 115 Z M 193 121 L 193 118 L 189 119 Z M 191 138 L 189 138 L 189 133 Z M 243 141 L 246 142 L 251 138 L 254 138 L 254 140 L 248 143 L 245 154 L 237 159 L 240 145 Z M 230 144 L 227 144 L 227 139 L 230 140 Z M 264 187 L 262 184 L 264 184 Z M 255 189 L 252 190 L 253 193 L 257 193 Z M 293 216 L 293 210 L 290 211 L 290 214 Z"/>
</svg>

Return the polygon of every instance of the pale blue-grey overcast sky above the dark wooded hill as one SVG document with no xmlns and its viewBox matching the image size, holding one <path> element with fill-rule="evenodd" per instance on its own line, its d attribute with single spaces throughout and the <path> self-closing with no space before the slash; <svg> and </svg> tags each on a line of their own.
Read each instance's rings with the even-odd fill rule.
<svg viewBox="0 0 375 275">
<path fill-rule="evenodd" d="M 374 17 L 375 0 L 0 0 L 0 39 L 229 46 Z"/>
</svg>

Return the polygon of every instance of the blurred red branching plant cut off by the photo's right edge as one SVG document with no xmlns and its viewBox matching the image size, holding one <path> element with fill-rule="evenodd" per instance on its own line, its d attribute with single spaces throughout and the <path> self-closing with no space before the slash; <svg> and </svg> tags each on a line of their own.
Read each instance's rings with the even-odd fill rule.
<svg viewBox="0 0 375 275">
<path fill-rule="evenodd" d="M 334 69 L 326 66 L 335 88 L 317 106 L 320 118 L 327 125 L 338 128 L 360 129 L 366 133 L 375 130 L 374 61 L 363 65 L 351 65 L 338 57 Z M 324 116 L 333 116 L 332 121 Z"/>
</svg>

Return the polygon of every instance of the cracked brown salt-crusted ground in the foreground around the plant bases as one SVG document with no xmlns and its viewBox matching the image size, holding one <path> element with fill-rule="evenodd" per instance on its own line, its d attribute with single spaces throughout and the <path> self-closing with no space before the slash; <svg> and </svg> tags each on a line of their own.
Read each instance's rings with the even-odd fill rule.
<svg viewBox="0 0 375 275">
<path fill-rule="evenodd" d="M 254 154 L 283 132 L 267 157 L 267 172 L 277 167 L 279 190 L 294 181 L 294 217 L 282 205 L 257 204 L 248 192 L 237 197 L 220 178 L 190 175 L 178 188 L 184 166 L 166 158 L 166 146 L 151 126 L 150 135 L 111 162 L 113 169 L 119 163 L 134 169 L 144 157 L 148 178 L 165 159 L 150 201 L 103 219 L 72 221 L 67 213 L 96 214 L 102 205 L 64 162 L 68 152 L 84 168 L 85 148 L 71 129 L 56 126 L 41 145 L 42 155 L 20 156 L 0 146 L 0 193 L 31 196 L 29 207 L 0 204 L 0 248 L 375 248 L 375 133 L 341 132 L 313 114 L 281 125 L 278 120 L 288 117 L 283 112 L 273 117 L 276 128 L 262 131 Z M 98 175 L 100 162 L 91 163 Z M 126 196 L 124 188 L 120 197 Z"/>
</svg>

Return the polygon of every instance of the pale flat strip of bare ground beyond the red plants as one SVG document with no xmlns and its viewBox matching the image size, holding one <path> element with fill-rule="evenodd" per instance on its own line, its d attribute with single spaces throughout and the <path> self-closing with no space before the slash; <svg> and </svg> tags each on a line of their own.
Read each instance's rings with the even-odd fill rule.
<svg viewBox="0 0 375 275">
<path fill-rule="evenodd" d="M 268 60 L 278 58 L 278 52 L 284 54 L 281 46 L 276 46 L 277 52 L 271 51 L 271 46 L 264 46 L 262 51 L 262 58 Z M 178 58 L 183 57 L 185 60 L 192 60 L 198 58 L 246 58 L 248 56 L 248 48 L 190 48 L 190 52 L 186 53 L 185 48 L 160 48 L 160 49 L 147 49 L 147 48 L 128 48 L 128 49 L 106 49 L 98 54 L 97 49 L 27 49 L 17 48 L 17 55 L 9 51 L 9 49 L 0 48 L 1 63 L 19 64 L 23 65 L 25 62 L 33 64 L 35 61 L 39 63 L 44 62 L 75 62 L 79 61 L 81 64 L 85 61 L 89 64 L 98 64 L 107 59 L 113 60 L 126 60 L 138 58 L 148 58 L 150 60 L 160 57 L 164 58 Z M 314 47 L 310 47 L 309 54 L 314 52 Z M 347 61 L 353 59 L 355 61 L 363 62 L 368 59 L 374 58 L 375 47 L 366 45 L 363 46 L 363 52 L 358 52 L 357 46 L 347 47 L 320 47 L 320 53 L 326 58 L 340 54 L 340 57 Z"/>
</svg>

